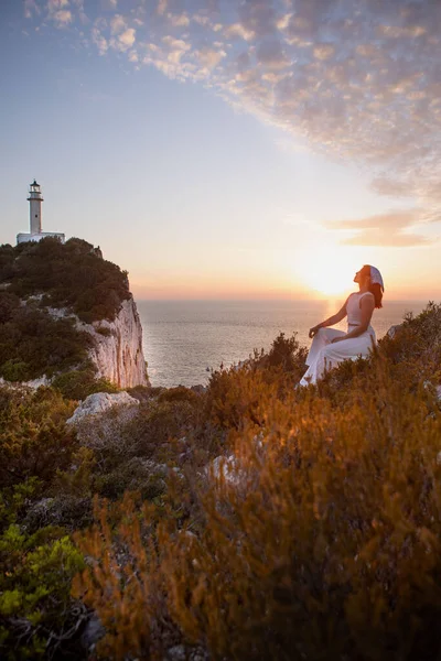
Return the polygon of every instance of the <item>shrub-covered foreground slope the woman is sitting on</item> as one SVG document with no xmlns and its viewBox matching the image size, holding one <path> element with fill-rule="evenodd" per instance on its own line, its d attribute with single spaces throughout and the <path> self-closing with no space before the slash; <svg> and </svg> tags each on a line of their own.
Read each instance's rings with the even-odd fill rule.
<svg viewBox="0 0 441 661">
<path fill-rule="evenodd" d="M 0 655 L 438 658 L 441 306 L 297 390 L 304 357 L 279 336 L 75 433 L 1 390 Z"/>
</svg>

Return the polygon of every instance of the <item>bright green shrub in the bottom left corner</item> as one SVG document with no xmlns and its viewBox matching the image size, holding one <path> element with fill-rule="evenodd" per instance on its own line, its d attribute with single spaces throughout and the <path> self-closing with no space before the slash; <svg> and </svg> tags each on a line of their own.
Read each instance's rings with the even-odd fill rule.
<svg viewBox="0 0 441 661">
<path fill-rule="evenodd" d="M 63 529 L 30 533 L 18 520 L 39 491 L 34 478 L 0 495 L 0 655 L 10 661 L 63 658 L 85 609 L 69 596 L 74 574 L 85 567 Z"/>
</svg>

